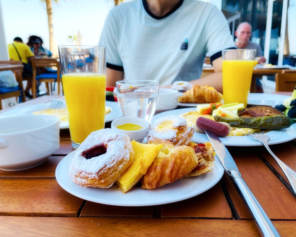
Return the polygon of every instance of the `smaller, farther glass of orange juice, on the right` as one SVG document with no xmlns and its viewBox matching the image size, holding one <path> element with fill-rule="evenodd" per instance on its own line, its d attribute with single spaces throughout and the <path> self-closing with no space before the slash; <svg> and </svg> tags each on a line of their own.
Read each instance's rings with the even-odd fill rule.
<svg viewBox="0 0 296 237">
<path fill-rule="evenodd" d="M 224 104 L 244 103 L 247 107 L 256 49 L 225 49 L 222 51 Z"/>
</svg>

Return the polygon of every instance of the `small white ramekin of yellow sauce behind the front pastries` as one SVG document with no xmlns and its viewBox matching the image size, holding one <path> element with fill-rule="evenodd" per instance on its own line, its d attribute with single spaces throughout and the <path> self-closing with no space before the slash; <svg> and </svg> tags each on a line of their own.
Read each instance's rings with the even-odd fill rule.
<svg viewBox="0 0 296 237">
<path fill-rule="evenodd" d="M 142 127 L 142 129 L 139 130 L 123 130 L 118 129 L 117 126 L 123 125 L 123 124 L 136 124 Z M 150 124 L 142 118 L 138 117 L 121 117 L 118 119 L 115 119 L 111 122 L 111 128 L 116 129 L 119 132 L 127 134 L 131 141 L 136 140 L 137 142 L 143 142 L 143 139 L 147 136 L 149 131 Z"/>
</svg>

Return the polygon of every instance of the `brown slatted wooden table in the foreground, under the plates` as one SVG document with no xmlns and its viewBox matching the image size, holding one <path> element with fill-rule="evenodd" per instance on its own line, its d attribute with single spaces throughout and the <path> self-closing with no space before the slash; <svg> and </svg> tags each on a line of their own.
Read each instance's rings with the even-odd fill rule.
<svg viewBox="0 0 296 237">
<path fill-rule="evenodd" d="M 16 106 L 55 97 L 63 98 L 42 96 Z M 281 236 L 294 236 L 296 199 L 274 159 L 263 146 L 228 148 Z M 296 170 L 295 140 L 271 150 Z M 45 163 L 24 171 L 0 170 L 1 236 L 260 236 L 225 174 L 210 190 L 177 203 L 108 206 L 77 198 L 55 180 L 57 164 L 72 151 L 69 131 L 61 130 L 60 148 Z"/>
</svg>

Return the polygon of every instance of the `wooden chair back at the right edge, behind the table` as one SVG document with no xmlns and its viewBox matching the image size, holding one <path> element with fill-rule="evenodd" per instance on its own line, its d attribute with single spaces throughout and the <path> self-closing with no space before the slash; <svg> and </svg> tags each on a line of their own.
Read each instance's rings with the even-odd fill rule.
<svg viewBox="0 0 296 237">
<path fill-rule="evenodd" d="M 276 73 L 276 91 L 292 92 L 296 87 L 296 70 L 283 70 L 281 73 Z"/>
</svg>

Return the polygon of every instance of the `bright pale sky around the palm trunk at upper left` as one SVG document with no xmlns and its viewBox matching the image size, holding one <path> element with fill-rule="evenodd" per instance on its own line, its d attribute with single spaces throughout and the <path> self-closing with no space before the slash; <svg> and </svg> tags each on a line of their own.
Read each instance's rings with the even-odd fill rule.
<svg viewBox="0 0 296 237">
<path fill-rule="evenodd" d="M 0 0 L 6 42 L 16 36 L 24 43 L 30 35 L 41 36 L 49 49 L 45 2 L 41 0 Z M 81 35 L 81 44 L 98 45 L 105 18 L 113 0 L 59 0 L 52 3 L 56 45 L 73 45 L 68 36 Z M 109 5 L 109 6 L 108 6 Z M 111 6 L 112 7 L 112 6 Z"/>
</svg>

